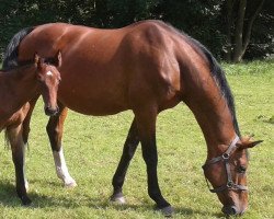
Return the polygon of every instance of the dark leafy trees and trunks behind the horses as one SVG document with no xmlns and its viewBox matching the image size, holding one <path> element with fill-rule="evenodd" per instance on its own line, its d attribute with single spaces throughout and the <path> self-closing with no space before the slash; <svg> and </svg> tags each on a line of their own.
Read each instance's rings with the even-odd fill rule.
<svg viewBox="0 0 274 219">
<path fill-rule="evenodd" d="M 0 0 L 0 59 L 26 26 L 68 22 L 103 28 L 159 19 L 238 62 L 273 56 L 273 0 Z"/>
</svg>

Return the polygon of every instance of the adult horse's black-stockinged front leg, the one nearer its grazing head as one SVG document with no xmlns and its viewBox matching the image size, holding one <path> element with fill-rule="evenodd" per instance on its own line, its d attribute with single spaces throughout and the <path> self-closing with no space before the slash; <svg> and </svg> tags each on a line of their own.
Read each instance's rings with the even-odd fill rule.
<svg viewBox="0 0 274 219">
<path fill-rule="evenodd" d="M 157 208 L 160 209 L 163 215 L 171 216 L 173 209 L 171 208 L 170 204 L 162 197 L 157 176 L 157 111 L 153 107 L 146 107 L 141 111 L 135 112 L 135 116 L 141 142 L 142 158 L 147 165 L 148 194 L 156 201 Z"/>
</svg>

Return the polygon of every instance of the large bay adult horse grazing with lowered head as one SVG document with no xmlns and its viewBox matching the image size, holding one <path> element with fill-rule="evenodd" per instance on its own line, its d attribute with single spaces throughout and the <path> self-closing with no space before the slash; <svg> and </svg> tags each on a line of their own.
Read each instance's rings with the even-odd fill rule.
<svg viewBox="0 0 274 219">
<path fill-rule="evenodd" d="M 116 30 L 50 23 L 15 34 L 3 65 L 12 68 L 34 51 L 47 57 L 57 50 L 61 51 L 64 62 L 58 91 L 60 111 L 49 118 L 46 129 L 57 174 L 65 185 L 75 185 L 61 145 L 67 110 L 93 116 L 132 110 L 135 117 L 113 176 L 111 199 L 125 203 L 122 192 L 125 174 L 140 142 L 148 194 L 158 209 L 172 215 L 173 209 L 158 184 L 156 122 L 160 112 L 184 102 L 204 134 L 207 146 L 204 173 L 224 206 L 222 211 L 226 215 L 246 211 L 247 149 L 261 141 L 241 137 L 225 73 L 202 44 L 161 21 L 142 21 Z M 30 119 L 31 114 L 25 126 Z"/>
</svg>

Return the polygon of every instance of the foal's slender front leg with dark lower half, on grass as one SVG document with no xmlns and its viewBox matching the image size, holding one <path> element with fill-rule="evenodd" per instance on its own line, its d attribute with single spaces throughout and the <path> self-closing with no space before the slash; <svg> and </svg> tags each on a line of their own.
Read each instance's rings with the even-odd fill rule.
<svg viewBox="0 0 274 219">
<path fill-rule="evenodd" d="M 23 205 L 30 205 L 32 200 L 26 194 L 28 185 L 24 173 L 25 143 L 23 141 L 22 131 L 22 124 L 20 124 L 16 127 L 8 128 L 7 136 L 11 143 L 12 160 L 15 168 L 16 193 Z"/>
</svg>

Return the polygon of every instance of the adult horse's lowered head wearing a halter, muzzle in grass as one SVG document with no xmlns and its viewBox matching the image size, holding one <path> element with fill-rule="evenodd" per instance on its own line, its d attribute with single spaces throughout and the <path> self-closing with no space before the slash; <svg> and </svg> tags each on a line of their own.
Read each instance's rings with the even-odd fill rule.
<svg viewBox="0 0 274 219">
<path fill-rule="evenodd" d="M 260 142 L 237 136 L 221 155 L 203 165 L 205 177 L 213 185 L 210 192 L 217 194 L 226 215 L 242 215 L 248 208 L 247 149 Z"/>
</svg>

